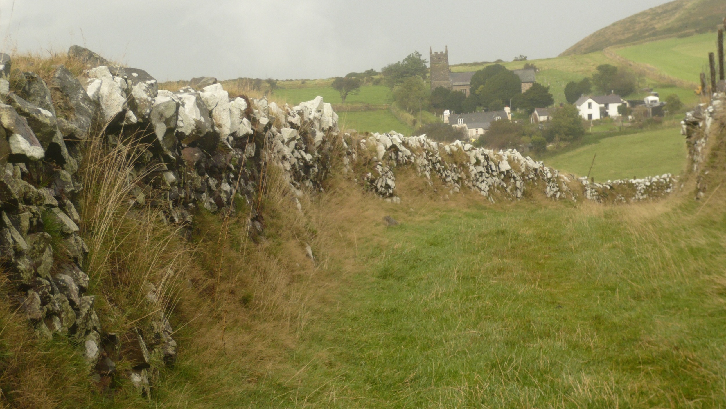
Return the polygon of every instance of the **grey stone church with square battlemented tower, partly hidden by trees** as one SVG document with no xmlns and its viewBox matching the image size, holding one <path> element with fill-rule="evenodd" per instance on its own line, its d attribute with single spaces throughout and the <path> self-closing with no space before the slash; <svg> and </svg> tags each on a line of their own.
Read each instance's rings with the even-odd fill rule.
<svg viewBox="0 0 726 409">
<path fill-rule="evenodd" d="M 428 60 L 431 62 L 431 91 L 440 86 L 449 88 L 452 91 L 462 91 L 466 96 L 470 94 L 471 77 L 474 73 L 452 73 L 449 69 L 449 46 L 445 51 L 433 51 L 428 49 Z M 537 79 L 537 72 L 533 69 L 512 70 L 522 80 L 522 93 L 531 88 Z"/>
</svg>

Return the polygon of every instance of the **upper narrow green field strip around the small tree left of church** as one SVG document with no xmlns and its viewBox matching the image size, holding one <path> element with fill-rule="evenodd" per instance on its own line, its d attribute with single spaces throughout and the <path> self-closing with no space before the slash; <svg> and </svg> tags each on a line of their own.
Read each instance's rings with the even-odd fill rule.
<svg viewBox="0 0 726 409">
<path fill-rule="evenodd" d="M 330 87 L 317 88 L 278 88 L 274 91 L 276 97 L 285 99 L 288 104 L 299 104 L 304 101 L 322 96 L 325 102 L 340 104 L 340 94 Z M 387 86 L 363 86 L 359 94 L 348 95 L 346 104 L 372 104 L 383 105 L 391 103 L 391 88 Z"/>
</svg>

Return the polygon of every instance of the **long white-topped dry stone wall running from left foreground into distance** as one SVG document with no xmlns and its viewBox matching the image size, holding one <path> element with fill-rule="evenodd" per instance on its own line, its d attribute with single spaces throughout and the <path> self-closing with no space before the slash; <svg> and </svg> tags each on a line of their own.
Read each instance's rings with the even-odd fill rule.
<svg viewBox="0 0 726 409">
<path fill-rule="evenodd" d="M 152 357 L 169 365 L 176 359 L 174 329 L 163 313 L 126 334 L 101 328 L 76 210 L 89 139 L 102 138 L 109 147 L 145 146 L 134 162 L 141 182 L 131 186 L 129 202 L 151 205 L 181 226 L 192 223 L 200 207 L 232 212 L 235 199 L 252 205 L 270 165 L 282 171 L 293 201 L 322 190 L 339 162 L 364 189 L 391 202 L 400 201 L 401 167 L 415 169 L 431 184 L 438 178 L 449 194 L 468 189 L 492 202 L 530 192 L 555 200 L 632 202 L 662 197 L 674 186 L 671 175 L 591 183 L 515 150 L 439 144 L 394 132 L 341 134 L 338 115 L 322 97 L 279 107 L 266 99 L 230 98 L 211 77 L 166 91 L 144 70 L 114 65 L 83 47 L 71 47 L 69 56 L 85 65 L 83 75 L 76 78 L 58 66 L 45 81 L 36 73 L 13 73 L 12 59 L 0 55 L 0 263 L 12 279 L 13 302 L 38 336 L 68 334 L 99 384 L 109 384 L 119 361 L 129 361 L 123 375 L 144 394 L 155 377 Z M 12 86 L 11 73 L 20 78 Z M 253 211 L 250 234 L 263 229 Z M 54 247 L 54 240 L 62 246 Z M 155 283 L 142 289 L 150 302 L 163 298 Z"/>
</svg>

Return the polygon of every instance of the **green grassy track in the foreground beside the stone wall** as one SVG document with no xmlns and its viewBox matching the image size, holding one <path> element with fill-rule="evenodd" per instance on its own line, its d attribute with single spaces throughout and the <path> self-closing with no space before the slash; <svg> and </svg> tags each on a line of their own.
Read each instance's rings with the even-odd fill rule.
<svg viewBox="0 0 726 409">
<path fill-rule="evenodd" d="M 726 224 L 648 206 L 390 207 L 293 374 L 237 405 L 722 407 Z"/>
</svg>

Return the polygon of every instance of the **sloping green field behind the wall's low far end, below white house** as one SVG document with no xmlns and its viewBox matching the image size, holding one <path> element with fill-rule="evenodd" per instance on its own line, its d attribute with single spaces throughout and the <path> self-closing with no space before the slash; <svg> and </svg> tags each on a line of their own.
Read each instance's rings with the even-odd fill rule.
<svg viewBox="0 0 726 409">
<path fill-rule="evenodd" d="M 552 168 L 585 176 L 590 170 L 595 181 L 638 178 L 672 173 L 678 175 L 685 166 L 685 139 L 680 128 L 645 131 L 632 135 L 612 136 L 595 144 L 544 159 Z"/>
</svg>

